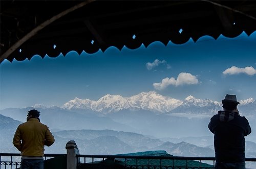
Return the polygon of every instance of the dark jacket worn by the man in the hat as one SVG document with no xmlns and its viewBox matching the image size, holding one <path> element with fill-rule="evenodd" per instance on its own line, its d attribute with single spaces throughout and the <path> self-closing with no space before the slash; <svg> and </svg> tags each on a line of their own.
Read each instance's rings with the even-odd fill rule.
<svg viewBox="0 0 256 169">
<path fill-rule="evenodd" d="M 237 112 L 219 111 L 210 119 L 209 130 L 214 133 L 217 161 L 244 162 L 245 138 L 251 133 L 248 120 Z"/>
</svg>

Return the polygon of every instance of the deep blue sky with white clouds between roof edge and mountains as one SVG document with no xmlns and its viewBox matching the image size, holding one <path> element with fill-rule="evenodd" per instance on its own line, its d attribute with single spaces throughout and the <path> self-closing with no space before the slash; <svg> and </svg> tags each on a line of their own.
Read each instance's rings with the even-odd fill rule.
<svg viewBox="0 0 256 169">
<path fill-rule="evenodd" d="M 105 94 L 130 97 L 155 90 L 184 100 L 256 99 L 256 32 L 249 37 L 202 37 L 167 46 L 154 42 L 139 49 L 110 47 L 104 53 L 70 52 L 65 57 L 34 56 L 0 64 L 0 109 L 34 104 L 62 106 L 74 99 L 98 100 Z"/>
</svg>

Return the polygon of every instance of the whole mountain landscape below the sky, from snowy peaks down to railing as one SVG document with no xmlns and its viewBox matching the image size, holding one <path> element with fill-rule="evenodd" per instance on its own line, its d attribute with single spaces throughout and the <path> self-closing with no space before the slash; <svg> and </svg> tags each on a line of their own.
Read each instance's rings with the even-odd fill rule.
<svg viewBox="0 0 256 169">
<path fill-rule="evenodd" d="M 246 137 L 246 157 L 256 157 L 253 99 L 240 101 L 252 133 Z M 165 150 L 176 156 L 214 156 L 209 119 L 221 110 L 218 102 L 188 96 L 184 101 L 156 92 L 131 98 L 106 95 L 98 101 L 74 99 L 62 107 L 35 105 L 0 111 L 2 153 L 17 153 L 12 137 L 25 122 L 30 109 L 41 111 L 40 120 L 49 126 L 56 142 L 45 153 L 66 153 L 66 143 L 75 140 L 80 154 L 123 154 Z"/>
</svg>

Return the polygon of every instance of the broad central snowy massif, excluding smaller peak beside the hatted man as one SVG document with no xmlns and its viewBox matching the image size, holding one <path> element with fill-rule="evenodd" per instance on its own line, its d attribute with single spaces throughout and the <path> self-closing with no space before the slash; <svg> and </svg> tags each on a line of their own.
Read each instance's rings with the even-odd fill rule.
<svg viewBox="0 0 256 169">
<path fill-rule="evenodd" d="M 123 98 L 121 95 L 107 94 L 98 101 L 89 99 L 81 100 L 75 98 L 64 104 L 62 108 L 67 109 L 91 109 L 96 112 L 111 113 L 120 110 L 150 110 L 154 112 L 168 112 L 182 104 L 182 101 L 163 96 L 155 91 L 141 92 L 130 98 Z"/>
</svg>

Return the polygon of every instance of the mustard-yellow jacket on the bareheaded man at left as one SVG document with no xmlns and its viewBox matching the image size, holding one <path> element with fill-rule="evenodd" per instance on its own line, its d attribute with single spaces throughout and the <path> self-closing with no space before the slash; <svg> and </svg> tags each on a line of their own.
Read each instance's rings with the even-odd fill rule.
<svg viewBox="0 0 256 169">
<path fill-rule="evenodd" d="M 13 137 L 13 145 L 22 156 L 44 156 L 45 145 L 54 143 L 54 136 L 49 128 L 41 124 L 37 118 L 30 118 L 28 122 L 20 124 Z"/>
</svg>

